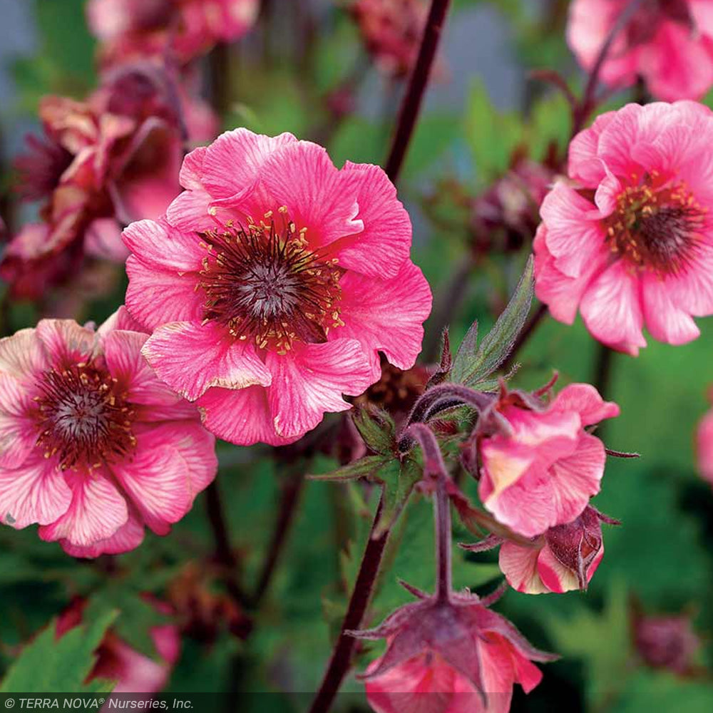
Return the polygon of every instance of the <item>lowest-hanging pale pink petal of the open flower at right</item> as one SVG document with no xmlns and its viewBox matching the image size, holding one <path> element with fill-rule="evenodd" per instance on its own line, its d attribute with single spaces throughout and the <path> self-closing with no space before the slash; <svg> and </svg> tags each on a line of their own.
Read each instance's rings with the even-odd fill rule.
<svg viewBox="0 0 713 713">
<path fill-rule="evenodd" d="M 637 356 L 646 346 L 642 334 L 640 282 L 624 260 L 597 275 L 583 295 L 580 312 L 600 342 Z"/>
</svg>

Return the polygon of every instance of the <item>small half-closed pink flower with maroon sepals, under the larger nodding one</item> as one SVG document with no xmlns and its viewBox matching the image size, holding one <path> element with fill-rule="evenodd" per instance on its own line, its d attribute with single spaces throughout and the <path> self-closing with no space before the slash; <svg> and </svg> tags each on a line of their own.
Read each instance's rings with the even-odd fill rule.
<svg viewBox="0 0 713 713">
<path fill-rule="evenodd" d="M 503 542 L 499 563 L 508 584 L 525 594 L 585 590 L 604 557 L 602 520 L 617 524 L 587 506 L 573 522 L 555 525 L 531 547 Z"/>
</svg>

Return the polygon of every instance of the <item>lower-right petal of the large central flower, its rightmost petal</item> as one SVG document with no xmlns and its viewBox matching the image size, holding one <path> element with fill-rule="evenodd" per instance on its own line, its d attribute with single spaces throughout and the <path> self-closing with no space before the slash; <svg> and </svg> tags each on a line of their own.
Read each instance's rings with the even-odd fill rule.
<svg viewBox="0 0 713 713">
<path fill-rule="evenodd" d="M 378 351 L 399 369 L 414 366 L 421 352 L 423 322 L 431 313 L 431 288 L 421 270 L 410 260 L 393 279 L 365 277 L 347 272 L 342 289 L 339 337 L 358 339 L 371 359 L 371 373 L 379 379 Z"/>
</svg>

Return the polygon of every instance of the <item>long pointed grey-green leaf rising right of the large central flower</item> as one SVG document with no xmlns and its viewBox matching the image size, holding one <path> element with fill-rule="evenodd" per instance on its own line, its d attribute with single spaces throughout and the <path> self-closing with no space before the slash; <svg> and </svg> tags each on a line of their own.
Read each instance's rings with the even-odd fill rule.
<svg viewBox="0 0 713 713">
<path fill-rule="evenodd" d="M 463 352 L 458 349 L 456 363 L 459 383 L 476 386 L 487 379 L 507 359 L 530 312 L 534 293 L 533 266 L 533 257 L 530 256 L 508 306 L 498 317 L 498 321 L 483 339 L 477 351 L 473 354 L 466 349 L 463 349 Z M 466 335 L 466 339 L 468 339 L 468 348 L 472 348 L 473 337 Z M 453 365 L 453 374 L 456 374 L 456 364 Z"/>
</svg>

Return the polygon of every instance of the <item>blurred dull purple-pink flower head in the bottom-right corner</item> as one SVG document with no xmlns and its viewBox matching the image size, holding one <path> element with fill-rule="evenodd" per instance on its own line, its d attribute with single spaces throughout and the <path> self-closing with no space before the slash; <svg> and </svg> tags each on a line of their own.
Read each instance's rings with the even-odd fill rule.
<svg viewBox="0 0 713 713">
<path fill-rule="evenodd" d="M 696 670 L 701 640 L 687 615 L 647 616 L 634 612 L 634 643 L 647 665 L 679 675 Z"/>
</svg>

